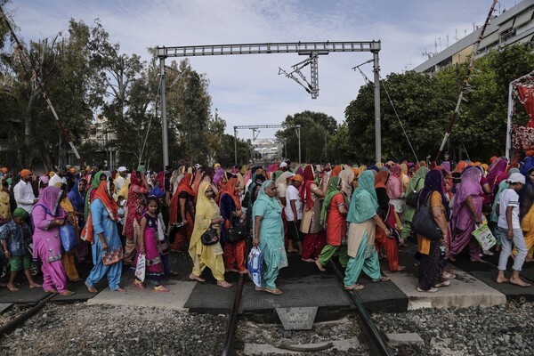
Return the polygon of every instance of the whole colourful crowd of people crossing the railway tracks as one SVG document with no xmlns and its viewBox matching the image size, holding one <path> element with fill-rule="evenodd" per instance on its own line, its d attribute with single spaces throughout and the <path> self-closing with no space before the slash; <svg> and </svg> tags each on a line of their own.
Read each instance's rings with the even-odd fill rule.
<svg viewBox="0 0 534 356">
<path fill-rule="evenodd" d="M 409 240 L 417 244 L 419 292 L 449 286 L 456 276 L 448 262 L 464 252 L 477 263 L 500 251 L 497 282 L 530 286 L 519 273 L 534 249 L 534 151 L 488 164 L 177 166 L 158 173 L 145 166 L 57 166 L 41 175 L 1 168 L 0 240 L 11 270 L 3 287 L 18 291 L 15 277 L 24 271 L 29 287 L 72 295 L 69 281 L 81 280 L 77 266 L 91 263 L 90 292 L 104 278 L 122 292 L 125 264 L 134 287 L 145 289 L 150 280 L 154 291 L 167 292 L 166 278 L 177 274 L 169 254 L 181 250 L 192 262 L 189 279 L 205 282 L 207 267 L 218 286 L 231 287 L 225 276 L 247 273 L 252 245 L 263 253 L 257 291 L 283 293 L 276 282 L 287 254 L 320 271 L 337 256 L 345 289 L 359 290 L 361 271 L 374 282 L 389 280 L 383 258 L 390 272 L 402 271 L 399 248 Z M 435 225 L 426 234 L 415 223 L 425 209 Z M 76 248 L 64 246 L 66 225 L 76 232 Z M 483 225 L 496 237 L 495 247 L 481 248 L 474 238 Z M 509 256 L 513 273 L 506 277 Z M 41 264 L 42 286 L 30 272 L 32 259 Z"/>
</svg>

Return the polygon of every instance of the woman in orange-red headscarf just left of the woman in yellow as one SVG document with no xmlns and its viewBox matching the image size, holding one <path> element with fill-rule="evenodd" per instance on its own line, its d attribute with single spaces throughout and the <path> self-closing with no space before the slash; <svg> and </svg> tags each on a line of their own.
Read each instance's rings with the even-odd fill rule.
<svg viewBox="0 0 534 356">
<path fill-rule="evenodd" d="M 171 250 L 180 251 L 185 241 L 189 243 L 195 225 L 195 201 L 196 194 L 191 188 L 193 174 L 185 174 L 178 183 L 178 188 L 174 193 L 169 206 L 169 223 L 175 225 L 182 223 L 174 234 L 174 241 Z"/>
</svg>

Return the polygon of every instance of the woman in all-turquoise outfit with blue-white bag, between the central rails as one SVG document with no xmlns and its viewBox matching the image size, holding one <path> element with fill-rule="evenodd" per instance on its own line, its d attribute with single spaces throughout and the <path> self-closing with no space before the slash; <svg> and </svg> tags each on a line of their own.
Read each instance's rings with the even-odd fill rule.
<svg viewBox="0 0 534 356">
<path fill-rule="evenodd" d="M 256 287 L 256 290 L 281 295 L 282 291 L 276 287 L 276 279 L 279 269 L 287 267 L 287 255 L 284 247 L 282 206 L 275 197 L 274 182 L 263 182 L 253 207 L 253 245 L 259 246 L 263 252 L 262 287 Z"/>
</svg>

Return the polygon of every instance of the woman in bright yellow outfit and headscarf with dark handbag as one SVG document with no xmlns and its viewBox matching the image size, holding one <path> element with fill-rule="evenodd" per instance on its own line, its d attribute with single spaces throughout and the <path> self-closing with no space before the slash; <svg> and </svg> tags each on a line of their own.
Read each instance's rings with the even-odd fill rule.
<svg viewBox="0 0 534 356">
<path fill-rule="evenodd" d="M 197 208 L 195 214 L 195 227 L 191 235 L 189 253 L 193 260 L 193 270 L 189 278 L 198 282 L 205 282 L 201 278 L 202 271 L 208 267 L 214 278 L 217 279 L 217 286 L 228 288 L 231 283 L 224 280 L 223 248 L 217 242 L 214 245 L 206 246 L 202 244 L 200 237 L 210 228 L 217 231 L 221 236 L 221 223 L 223 217 L 219 206 L 214 201 L 214 188 L 210 182 L 201 182 L 198 187 Z"/>
</svg>

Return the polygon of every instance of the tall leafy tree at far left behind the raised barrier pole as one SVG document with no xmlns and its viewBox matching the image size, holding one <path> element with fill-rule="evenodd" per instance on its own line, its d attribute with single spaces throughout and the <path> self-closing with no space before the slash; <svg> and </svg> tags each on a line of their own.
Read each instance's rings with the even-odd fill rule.
<svg viewBox="0 0 534 356">
<path fill-rule="evenodd" d="M 15 42 L 4 47 L 3 79 L 10 83 L 13 99 L 8 110 L 17 165 L 32 166 L 40 158 L 51 169 L 65 159 L 66 140 L 61 138 L 39 82 L 70 136 L 76 140 L 85 132 L 92 117 L 86 93 L 95 74 L 86 60 L 88 36 L 85 24 L 71 20 L 66 35 L 59 33 L 23 47 Z"/>
</svg>

